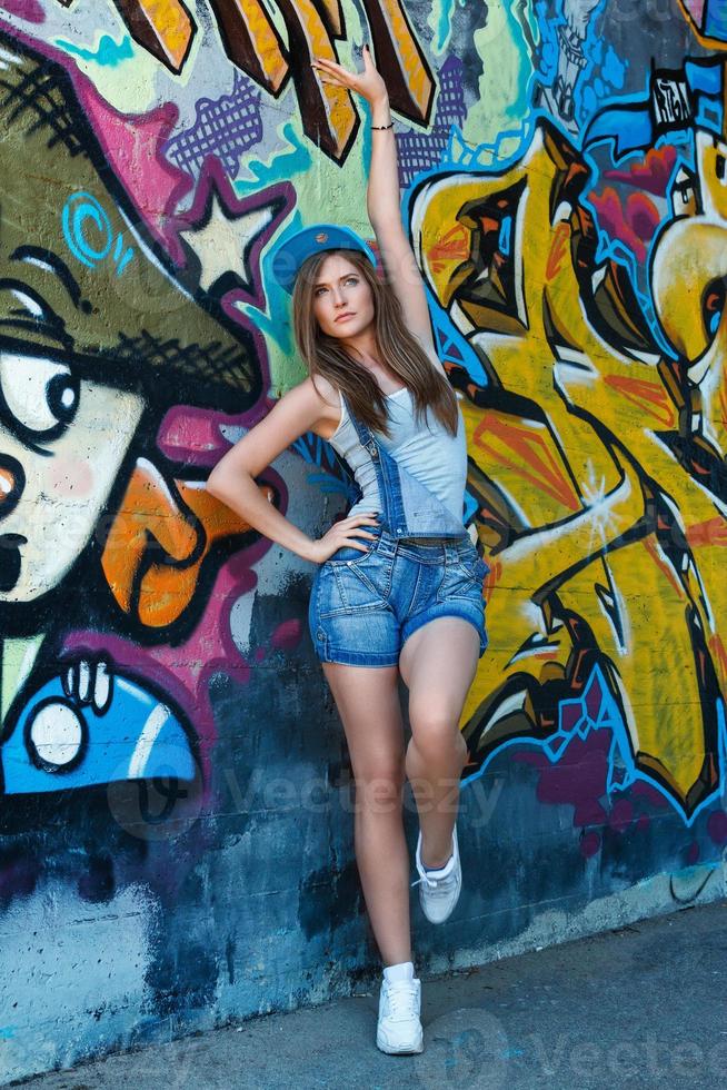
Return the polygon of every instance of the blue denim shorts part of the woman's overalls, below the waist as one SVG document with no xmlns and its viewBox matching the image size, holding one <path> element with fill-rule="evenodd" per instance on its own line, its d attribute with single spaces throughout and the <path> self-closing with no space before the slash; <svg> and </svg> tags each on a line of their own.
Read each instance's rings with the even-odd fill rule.
<svg viewBox="0 0 727 1090">
<path fill-rule="evenodd" d="M 429 544 L 366 529 L 378 535 L 366 553 L 346 545 L 316 574 L 308 625 L 319 660 L 395 666 L 405 641 L 435 617 L 469 621 L 481 657 L 487 647 L 482 585 L 489 567 L 469 537 Z"/>
</svg>

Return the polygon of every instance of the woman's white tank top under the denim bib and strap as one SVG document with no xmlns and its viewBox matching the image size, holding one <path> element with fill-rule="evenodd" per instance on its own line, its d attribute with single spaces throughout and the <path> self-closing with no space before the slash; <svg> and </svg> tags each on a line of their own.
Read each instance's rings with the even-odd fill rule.
<svg viewBox="0 0 727 1090">
<path fill-rule="evenodd" d="M 457 435 L 451 435 L 435 413 L 427 410 L 426 424 L 417 425 L 414 398 L 405 386 L 386 394 L 391 438 L 376 433 L 376 439 L 396 459 L 397 464 L 416 477 L 429 492 L 464 521 L 465 486 L 467 484 L 467 436 L 465 420 L 457 406 Z M 328 440 L 333 450 L 351 468 L 361 498 L 353 504 L 349 515 L 381 512 L 376 468 L 366 447 L 361 446 L 356 428 L 341 398 L 341 418 Z"/>
</svg>

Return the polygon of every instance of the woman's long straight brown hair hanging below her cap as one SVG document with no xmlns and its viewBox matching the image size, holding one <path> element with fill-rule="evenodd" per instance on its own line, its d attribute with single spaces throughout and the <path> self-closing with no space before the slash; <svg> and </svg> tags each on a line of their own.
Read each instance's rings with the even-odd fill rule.
<svg viewBox="0 0 727 1090">
<path fill-rule="evenodd" d="M 356 359 L 336 337 L 323 334 L 313 314 L 313 291 L 320 268 L 331 254 L 350 261 L 371 288 L 374 296 L 374 336 L 379 359 L 409 388 L 415 418 L 421 423 L 431 408 L 444 427 L 457 434 L 458 415 L 455 392 L 446 377 L 407 329 L 394 290 L 381 280 L 359 250 L 323 250 L 307 258 L 300 267 L 292 293 L 293 330 L 298 350 L 313 383 L 322 375 L 341 390 L 357 419 L 371 430 L 390 436 L 386 395 L 374 375 Z"/>
</svg>

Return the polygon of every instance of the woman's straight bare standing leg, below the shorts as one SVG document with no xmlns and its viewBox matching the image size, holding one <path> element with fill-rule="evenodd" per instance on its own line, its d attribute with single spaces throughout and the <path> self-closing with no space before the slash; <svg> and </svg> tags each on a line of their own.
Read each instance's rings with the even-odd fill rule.
<svg viewBox="0 0 727 1090">
<path fill-rule="evenodd" d="M 356 782 L 355 843 L 385 965 L 411 961 L 409 853 L 404 835 L 404 723 L 396 666 L 323 663 Z"/>
</svg>

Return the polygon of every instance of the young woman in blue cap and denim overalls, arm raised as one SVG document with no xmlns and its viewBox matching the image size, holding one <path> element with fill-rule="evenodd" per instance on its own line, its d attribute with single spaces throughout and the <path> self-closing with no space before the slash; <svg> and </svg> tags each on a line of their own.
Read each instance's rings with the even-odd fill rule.
<svg viewBox="0 0 727 1090">
<path fill-rule="evenodd" d="M 310 635 L 340 713 L 356 783 L 355 843 L 384 961 L 377 1044 L 420 1052 L 420 983 L 409 928 L 402 789 L 420 820 L 425 915 L 440 923 L 461 886 L 456 813 L 466 746 L 459 716 L 487 637 L 487 565 L 462 524 L 461 412 L 437 358 L 421 276 L 405 235 L 389 101 L 368 48 L 364 71 L 315 62 L 325 82 L 370 105 L 368 214 L 384 266 L 352 231 L 318 225 L 278 250 L 279 283 L 309 377 L 222 458 L 209 490 L 261 534 L 320 565 Z M 258 490 L 256 476 L 305 432 L 331 443 L 361 497 L 311 541 Z M 409 690 L 405 747 L 398 677 Z M 416 883 L 415 883 L 416 884 Z"/>
</svg>

